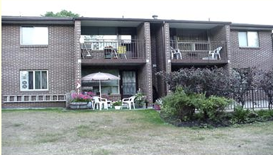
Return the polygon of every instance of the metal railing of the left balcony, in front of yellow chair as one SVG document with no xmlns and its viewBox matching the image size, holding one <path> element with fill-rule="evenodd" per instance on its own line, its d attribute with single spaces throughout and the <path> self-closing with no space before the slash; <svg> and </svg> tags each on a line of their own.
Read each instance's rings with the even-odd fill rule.
<svg viewBox="0 0 273 155">
<path fill-rule="evenodd" d="M 83 59 L 143 59 L 144 40 L 89 40 L 82 44 Z"/>
</svg>

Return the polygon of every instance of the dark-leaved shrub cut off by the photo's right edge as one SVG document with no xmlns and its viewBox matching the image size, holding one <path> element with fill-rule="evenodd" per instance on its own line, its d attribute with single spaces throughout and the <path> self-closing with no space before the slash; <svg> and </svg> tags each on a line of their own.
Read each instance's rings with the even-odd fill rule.
<svg viewBox="0 0 273 155">
<path fill-rule="evenodd" d="M 273 69 L 269 71 L 258 71 L 257 86 L 262 88 L 268 97 L 268 108 L 273 105 Z"/>
</svg>

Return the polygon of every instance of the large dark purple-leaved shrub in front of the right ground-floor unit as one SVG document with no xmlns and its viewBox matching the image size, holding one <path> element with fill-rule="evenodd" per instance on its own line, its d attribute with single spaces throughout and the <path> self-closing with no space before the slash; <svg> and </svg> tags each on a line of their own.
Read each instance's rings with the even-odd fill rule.
<svg viewBox="0 0 273 155">
<path fill-rule="evenodd" d="M 228 72 L 222 68 L 180 69 L 169 74 L 160 72 L 163 80 L 169 84 L 171 91 L 182 86 L 186 93 L 206 93 L 208 96 L 229 96 Z"/>
</svg>

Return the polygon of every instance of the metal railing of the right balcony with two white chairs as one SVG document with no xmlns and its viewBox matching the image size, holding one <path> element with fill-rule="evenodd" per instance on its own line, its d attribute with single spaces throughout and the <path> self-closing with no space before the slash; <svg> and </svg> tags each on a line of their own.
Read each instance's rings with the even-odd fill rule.
<svg viewBox="0 0 273 155">
<path fill-rule="evenodd" d="M 211 42 L 194 42 L 194 41 L 171 41 L 171 47 L 174 49 L 179 49 L 181 57 L 179 54 L 172 55 L 171 59 L 190 59 L 190 60 L 209 60 L 213 62 L 216 59 L 227 59 L 226 54 L 226 43 L 225 41 L 211 41 Z M 209 51 L 216 50 L 217 47 L 222 47 L 220 51 L 220 57 L 211 57 Z"/>
</svg>

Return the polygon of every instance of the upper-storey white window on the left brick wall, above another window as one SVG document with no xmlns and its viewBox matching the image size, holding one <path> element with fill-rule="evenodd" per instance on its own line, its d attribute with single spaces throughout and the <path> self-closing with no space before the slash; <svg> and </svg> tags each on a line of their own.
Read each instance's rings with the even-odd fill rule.
<svg viewBox="0 0 273 155">
<path fill-rule="evenodd" d="M 21 27 L 21 45 L 48 45 L 48 27 Z"/>
</svg>

